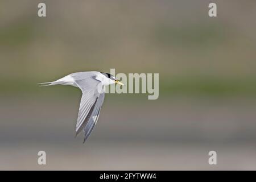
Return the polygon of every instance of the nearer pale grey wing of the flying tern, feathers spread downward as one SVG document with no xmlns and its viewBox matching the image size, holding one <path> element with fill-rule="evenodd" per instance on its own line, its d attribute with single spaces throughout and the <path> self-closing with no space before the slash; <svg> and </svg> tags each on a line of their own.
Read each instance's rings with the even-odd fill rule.
<svg viewBox="0 0 256 182">
<path fill-rule="evenodd" d="M 103 104 L 105 93 L 101 93 L 101 90 L 98 89 L 102 88 L 102 84 L 93 76 L 75 81 L 77 86 L 82 90 L 82 97 L 76 124 L 76 135 L 78 135 L 80 131 L 90 123 L 89 121 L 93 119 L 93 116 L 95 115 L 94 113 L 96 113 Z M 98 114 L 99 113 L 100 111 L 98 110 Z"/>
</svg>

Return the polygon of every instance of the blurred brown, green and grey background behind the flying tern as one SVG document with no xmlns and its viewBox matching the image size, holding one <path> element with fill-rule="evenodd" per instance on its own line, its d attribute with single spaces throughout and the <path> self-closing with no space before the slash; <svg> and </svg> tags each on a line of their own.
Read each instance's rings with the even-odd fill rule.
<svg viewBox="0 0 256 182">
<path fill-rule="evenodd" d="M 2 0 L 0 169 L 255 170 L 255 17 L 253 0 Z M 82 144 L 80 90 L 36 83 L 110 68 L 159 73 L 159 99 L 106 95 Z"/>
</svg>

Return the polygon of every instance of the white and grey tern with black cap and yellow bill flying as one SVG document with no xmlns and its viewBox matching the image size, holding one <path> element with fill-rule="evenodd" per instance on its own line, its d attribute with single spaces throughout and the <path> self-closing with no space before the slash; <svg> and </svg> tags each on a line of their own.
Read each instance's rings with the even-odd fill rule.
<svg viewBox="0 0 256 182">
<path fill-rule="evenodd" d="M 113 75 L 97 71 L 71 73 L 59 80 L 39 84 L 43 84 L 40 86 L 72 85 L 81 89 L 82 97 L 76 123 L 76 136 L 83 130 L 84 142 L 97 123 L 104 101 L 105 86 L 110 84 L 123 85 Z"/>
</svg>

